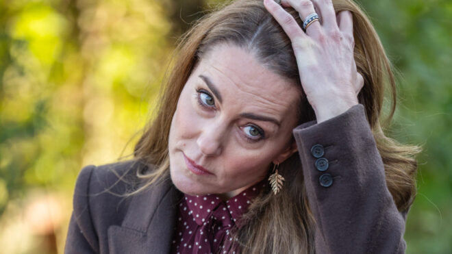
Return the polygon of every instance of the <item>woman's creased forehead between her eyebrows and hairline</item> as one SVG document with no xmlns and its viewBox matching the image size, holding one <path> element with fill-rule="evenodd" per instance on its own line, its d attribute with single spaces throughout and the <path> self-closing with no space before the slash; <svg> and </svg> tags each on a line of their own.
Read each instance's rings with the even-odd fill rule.
<svg viewBox="0 0 452 254">
<path fill-rule="evenodd" d="M 298 105 L 301 96 L 295 84 L 268 70 L 253 53 L 235 45 L 218 45 L 208 51 L 194 71 L 195 79 L 199 75 L 212 80 L 225 103 L 250 110 L 285 114 Z"/>
</svg>

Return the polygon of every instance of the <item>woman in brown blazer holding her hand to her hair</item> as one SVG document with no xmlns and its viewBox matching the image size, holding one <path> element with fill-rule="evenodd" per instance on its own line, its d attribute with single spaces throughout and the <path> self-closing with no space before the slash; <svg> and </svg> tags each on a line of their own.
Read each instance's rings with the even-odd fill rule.
<svg viewBox="0 0 452 254">
<path fill-rule="evenodd" d="M 404 253 L 418 149 L 355 3 L 234 1 L 178 52 L 135 160 L 81 170 L 66 253 Z"/>
</svg>

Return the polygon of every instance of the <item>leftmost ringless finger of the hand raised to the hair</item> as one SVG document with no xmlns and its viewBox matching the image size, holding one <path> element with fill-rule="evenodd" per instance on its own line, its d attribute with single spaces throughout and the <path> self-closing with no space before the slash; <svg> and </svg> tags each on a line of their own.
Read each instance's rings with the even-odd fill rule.
<svg viewBox="0 0 452 254">
<path fill-rule="evenodd" d="M 278 21 L 292 42 L 306 36 L 294 17 L 286 12 L 281 5 L 275 3 L 274 0 L 264 0 L 264 5 L 268 12 Z"/>
</svg>

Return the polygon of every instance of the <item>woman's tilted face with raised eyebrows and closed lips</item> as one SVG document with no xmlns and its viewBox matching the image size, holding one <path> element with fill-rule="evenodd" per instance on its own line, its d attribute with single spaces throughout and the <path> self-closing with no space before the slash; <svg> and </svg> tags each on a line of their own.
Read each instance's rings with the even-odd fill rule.
<svg viewBox="0 0 452 254">
<path fill-rule="evenodd" d="M 182 90 L 169 134 L 171 179 L 186 194 L 235 196 L 296 150 L 300 92 L 251 53 L 218 45 Z"/>
</svg>

